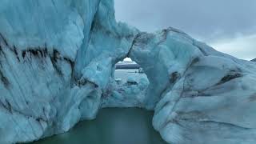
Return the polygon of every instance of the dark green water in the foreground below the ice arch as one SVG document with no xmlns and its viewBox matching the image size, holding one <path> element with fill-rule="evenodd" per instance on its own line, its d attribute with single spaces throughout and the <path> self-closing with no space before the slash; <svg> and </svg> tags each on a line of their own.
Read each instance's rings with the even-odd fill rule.
<svg viewBox="0 0 256 144">
<path fill-rule="evenodd" d="M 166 144 L 151 124 L 153 112 L 130 108 L 100 110 L 92 121 L 34 144 Z"/>
</svg>

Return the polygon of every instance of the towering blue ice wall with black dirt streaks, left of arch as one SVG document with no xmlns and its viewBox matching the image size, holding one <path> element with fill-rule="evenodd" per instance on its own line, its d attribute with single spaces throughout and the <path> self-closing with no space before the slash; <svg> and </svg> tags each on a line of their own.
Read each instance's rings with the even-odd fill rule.
<svg viewBox="0 0 256 144">
<path fill-rule="evenodd" d="M 6 1 L 0 6 L 0 143 L 30 142 L 94 118 L 114 64 L 138 30 L 113 1 Z"/>
</svg>

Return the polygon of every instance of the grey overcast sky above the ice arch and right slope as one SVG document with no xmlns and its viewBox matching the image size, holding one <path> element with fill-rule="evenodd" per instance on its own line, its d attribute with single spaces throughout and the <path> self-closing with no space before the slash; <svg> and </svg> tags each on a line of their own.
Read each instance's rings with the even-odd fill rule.
<svg viewBox="0 0 256 144">
<path fill-rule="evenodd" d="M 139 30 L 168 26 L 222 52 L 256 58 L 256 0 L 115 0 L 116 18 Z"/>
</svg>

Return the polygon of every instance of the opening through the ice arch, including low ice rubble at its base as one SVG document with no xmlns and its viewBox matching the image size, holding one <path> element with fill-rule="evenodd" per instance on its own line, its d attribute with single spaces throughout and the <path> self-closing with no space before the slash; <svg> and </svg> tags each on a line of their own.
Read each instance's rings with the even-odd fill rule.
<svg viewBox="0 0 256 144">
<path fill-rule="evenodd" d="M 114 68 L 114 82 L 110 82 L 103 94 L 102 107 L 145 107 L 150 82 L 142 67 L 124 58 Z"/>
</svg>

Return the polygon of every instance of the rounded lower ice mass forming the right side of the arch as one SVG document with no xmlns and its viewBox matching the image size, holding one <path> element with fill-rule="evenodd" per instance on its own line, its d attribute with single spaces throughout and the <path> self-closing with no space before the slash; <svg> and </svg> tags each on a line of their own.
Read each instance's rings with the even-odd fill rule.
<svg viewBox="0 0 256 144">
<path fill-rule="evenodd" d="M 254 143 L 254 62 L 222 54 L 180 30 L 138 34 L 130 50 L 150 85 L 146 106 L 170 143 Z M 155 105 L 156 104 L 156 105 Z"/>
</svg>

